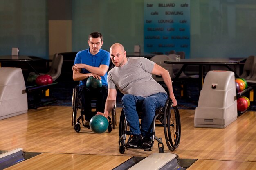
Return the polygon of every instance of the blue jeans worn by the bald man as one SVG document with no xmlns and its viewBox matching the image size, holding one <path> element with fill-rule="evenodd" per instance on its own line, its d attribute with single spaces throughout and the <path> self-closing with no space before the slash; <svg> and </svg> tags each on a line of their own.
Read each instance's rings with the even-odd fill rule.
<svg viewBox="0 0 256 170">
<path fill-rule="evenodd" d="M 122 106 L 130 126 L 130 133 L 132 135 L 141 134 L 143 137 L 150 137 L 155 110 L 159 107 L 164 107 L 167 99 L 168 95 L 166 93 L 157 93 L 146 98 L 125 94 L 122 97 Z M 137 109 L 141 108 L 143 112 L 141 116 L 141 130 L 139 128 L 139 116 L 136 107 Z"/>
</svg>

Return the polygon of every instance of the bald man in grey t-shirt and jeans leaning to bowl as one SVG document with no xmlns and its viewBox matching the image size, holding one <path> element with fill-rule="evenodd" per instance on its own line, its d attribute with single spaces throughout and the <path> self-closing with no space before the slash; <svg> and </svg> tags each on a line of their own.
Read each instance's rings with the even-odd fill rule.
<svg viewBox="0 0 256 170">
<path fill-rule="evenodd" d="M 126 147 L 150 148 L 152 146 L 151 124 L 155 116 L 155 109 L 164 107 L 168 97 L 172 100 L 173 106 L 177 105 L 170 74 L 168 70 L 148 59 L 142 57 L 127 58 L 124 47 L 119 43 L 111 46 L 110 57 L 115 67 L 108 73 L 108 98 L 104 113 L 98 112 L 97 114 L 108 117 L 115 105 L 117 89 L 119 89 L 124 94 L 122 107 L 131 133 Z M 152 74 L 162 76 L 168 88 L 169 96 L 164 88 L 152 78 Z M 138 103 L 142 105 L 143 111 L 141 129 L 136 111 L 136 104 Z"/>
</svg>

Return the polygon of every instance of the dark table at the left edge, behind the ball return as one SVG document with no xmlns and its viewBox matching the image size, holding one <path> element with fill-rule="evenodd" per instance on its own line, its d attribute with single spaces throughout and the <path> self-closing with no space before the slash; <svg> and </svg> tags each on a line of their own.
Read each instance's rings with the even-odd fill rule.
<svg viewBox="0 0 256 170">
<path fill-rule="evenodd" d="M 29 67 L 36 73 L 39 74 L 36 69 L 28 62 L 33 60 L 32 58 L 26 56 L 26 55 L 3 55 L 0 56 L 0 62 L 1 61 L 7 61 L 7 62 L 25 62 Z"/>
</svg>

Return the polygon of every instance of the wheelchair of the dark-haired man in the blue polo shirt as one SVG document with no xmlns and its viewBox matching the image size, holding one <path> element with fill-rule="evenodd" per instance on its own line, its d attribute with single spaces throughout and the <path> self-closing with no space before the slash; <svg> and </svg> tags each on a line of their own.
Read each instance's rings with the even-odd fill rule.
<svg viewBox="0 0 256 170">
<path fill-rule="evenodd" d="M 72 126 L 74 126 L 74 130 L 79 133 L 79 131 L 81 130 L 81 126 L 80 126 L 80 120 L 82 120 L 82 124 L 84 127 L 90 128 L 89 126 L 86 126 L 84 124 L 84 117 L 83 115 L 80 115 L 78 118 L 77 117 L 77 111 L 78 109 L 82 109 L 82 103 L 81 100 L 79 98 L 78 95 L 78 89 L 79 86 L 76 85 L 76 87 L 73 88 L 73 94 L 72 94 Z M 92 99 L 92 103 L 96 102 L 96 100 Z M 92 109 L 96 108 L 94 106 L 92 106 Z M 116 118 L 116 105 L 113 107 L 112 111 L 111 111 L 111 116 L 112 119 L 110 118 L 110 116 L 108 116 L 108 132 L 112 131 L 112 128 L 115 129 L 115 126 L 117 126 L 117 118 Z M 113 122 L 112 122 L 113 120 Z"/>
</svg>

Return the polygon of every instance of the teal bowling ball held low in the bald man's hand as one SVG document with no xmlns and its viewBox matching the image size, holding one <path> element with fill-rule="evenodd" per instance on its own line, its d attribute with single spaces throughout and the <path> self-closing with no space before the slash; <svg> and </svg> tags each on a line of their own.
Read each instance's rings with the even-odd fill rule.
<svg viewBox="0 0 256 170">
<path fill-rule="evenodd" d="M 91 118 L 89 126 L 94 133 L 103 133 L 108 129 L 108 119 L 102 115 L 95 115 Z"/>
</svg>

